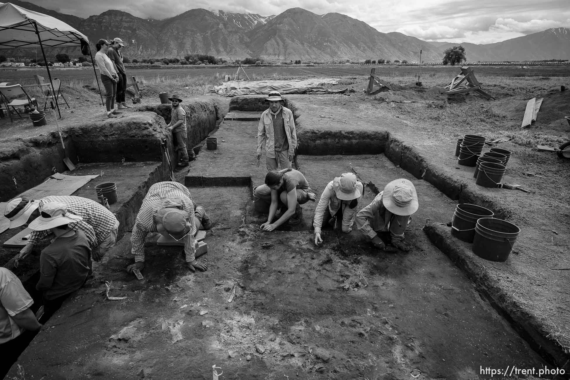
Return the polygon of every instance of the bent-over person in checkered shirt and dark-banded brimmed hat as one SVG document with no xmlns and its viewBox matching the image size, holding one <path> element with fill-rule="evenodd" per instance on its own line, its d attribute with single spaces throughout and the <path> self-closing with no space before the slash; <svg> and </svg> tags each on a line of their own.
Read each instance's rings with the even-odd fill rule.
<svg viewBox="0 0 570 380">
<path fill-rule="evenodd" d="M 111 211 L 88 198 L 75 197 L 74 195 L 48 195 L 39 201 L 15 198 L 6 205 L 4 216 L 10 219 L 10 228 L 20 227 L 38 218 L 42 207 L 50 202 L 61 202 L 67 206 L 70 213 L 83 218 L 75 224 L 74 229 L 82 230 L 87 236 L 89 243 L 91 243 L 93 260 L 101 261 L 107 251 L 115 246 L 117 232 L 119 232 L 119 220 Z M 22 248 L 16 258 L 17 263 L 31 254 L 34 245 L 46 238 L 47 235 L 46 231 L 32 232 L 26 246 Z"/>
</svg>

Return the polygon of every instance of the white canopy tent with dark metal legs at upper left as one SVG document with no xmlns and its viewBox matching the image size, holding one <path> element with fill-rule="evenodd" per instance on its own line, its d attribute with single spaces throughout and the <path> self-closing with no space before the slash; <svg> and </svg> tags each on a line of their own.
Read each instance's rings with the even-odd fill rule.
<svg viewBox="0 0 570 380">
<path fill-rule="evenodd" d="M 46 59 L 46 47 L 85 47 L 89 40 L 70 25 L 43 13 L 27 10 L 12 3 L 0 3 L 0 49 L 40 48 L 46 63 L 47 75 L 50 79 L 51 91 L 54 85 L 50 67 Z M 95 77 L 95 64 L 89 49 Z M 99 85 L 99 81 L 97 81 Z M 99 94 L 101 88 L 99 88 Z M 101 103 L 103 97 L 101 96 Z M 59 112 L 59 108 L 58 108 Z M 61 115 L 59 115 L 61 117 Z"/>
</svg>

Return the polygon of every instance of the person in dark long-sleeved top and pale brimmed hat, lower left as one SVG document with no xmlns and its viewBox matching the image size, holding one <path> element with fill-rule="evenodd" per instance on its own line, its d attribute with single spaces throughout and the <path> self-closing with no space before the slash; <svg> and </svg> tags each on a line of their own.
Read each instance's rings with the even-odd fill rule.
<svg viewBox="0 0 570 380">
<path fill-rule="evenodd" d="M 91 273 L 91 244 L 81 230 L 72 226 L 83 218 L 67 211 L 61 202 L 49 202 L 32 220 L 32 231 L 51 231 L 55 240 L 42 250 L 40 278 L 36 289 L 43 293 L 44 314 L 40 323 L 52 316 L 70 293 L 83 286 Z"/>
</svg>

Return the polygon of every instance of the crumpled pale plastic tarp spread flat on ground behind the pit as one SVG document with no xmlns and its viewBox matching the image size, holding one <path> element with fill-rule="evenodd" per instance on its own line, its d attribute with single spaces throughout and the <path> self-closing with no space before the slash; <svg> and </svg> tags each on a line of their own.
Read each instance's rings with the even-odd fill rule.
<svg viewBox="0 0 570 380">
<path fill-rule="evenodd" d="M 268 94 L 271 91 L 279 91 L 282 94 L 293 93 L 346 93 L 348 88 L 332 90 L 322 87 L 323 84 L 337 84 L 339 81 L 333 78 L 311 78 L 291 80 L 231 80 L 222 85 L 215 86 L 211 92 L 221 96 L 256 95 Z"/>
</svg>

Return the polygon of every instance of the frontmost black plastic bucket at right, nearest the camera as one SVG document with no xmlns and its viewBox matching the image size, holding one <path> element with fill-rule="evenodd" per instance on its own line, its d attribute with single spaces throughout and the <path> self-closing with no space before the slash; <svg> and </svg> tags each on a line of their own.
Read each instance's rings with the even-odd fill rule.
<svg viewBox="0 0 570 380">
<path fill-rule="evenodd" d="M 520 228 L 506 220 L 481 218 L 475 224 L 473 253 L 491 261 L 507 261 Z"/>
</svg>

